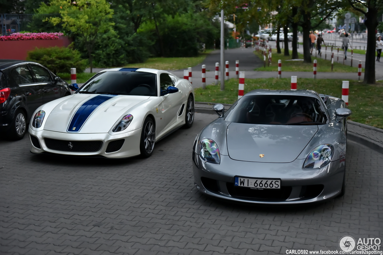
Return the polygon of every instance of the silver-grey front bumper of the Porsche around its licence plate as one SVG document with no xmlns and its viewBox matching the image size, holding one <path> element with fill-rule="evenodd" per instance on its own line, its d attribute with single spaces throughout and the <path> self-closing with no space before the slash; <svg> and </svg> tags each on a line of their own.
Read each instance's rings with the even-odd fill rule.
<svg viewBox="0 0 383 255">
<path fill-rule="evenodd" d="M 342 190 L 345 158 L 320 169 L 303 169 L 304 159 L 290 163 L 237 161 L 221 155 L 220 164 L 201 160 L 193 152 L 196 188 L 206 195 L 235 202 L 302 204 L 334 198 Z M 234 186 L 234 177 L 279 179 L 279 190 Z"/>
</svg>

